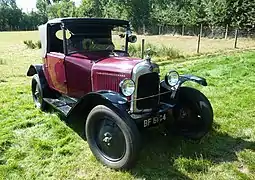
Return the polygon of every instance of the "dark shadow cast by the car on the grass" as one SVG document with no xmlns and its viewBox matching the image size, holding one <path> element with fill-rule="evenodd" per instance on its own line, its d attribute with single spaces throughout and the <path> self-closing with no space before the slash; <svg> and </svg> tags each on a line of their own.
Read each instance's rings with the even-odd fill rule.
<svg viewBox="0 0 255 180">
<path fill-rule="evenodd" d="M 74 119 L 65 119 L 73 131 L 82 139 L 84 136 L 84 122 Z M 75 122 L 75 123 L 73 123 Z M 237 152 L 244 149 L 255 150 L 255 142 L 246 141 L 247 137 L 232 137 L 219 130 L 219 125 L 214 123 L 213 130 L 199 141 L 191 141 L 181 137 L 165 135 L 160 128 L 152 128 L 141 133 L 141 151 L 136 166 L 129 172 L 135 178 L 141 179 L 191 179 L 186 172 L 203 173 L 208 170 L 205 162 L 221 163 L 236 161 Z M 188 161 L 185 162 L 182 159 Z M 191 163 L 189 163 L 189 161 Z M 198 161 L 198 163 L 192 163 Z"/>
</svg>

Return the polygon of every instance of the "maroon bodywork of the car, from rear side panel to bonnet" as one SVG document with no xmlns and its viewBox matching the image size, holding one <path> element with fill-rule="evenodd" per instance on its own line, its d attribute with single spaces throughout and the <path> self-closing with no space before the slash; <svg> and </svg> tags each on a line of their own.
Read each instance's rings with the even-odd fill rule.
<svg viewBox="0 0 255 180">
<path fill-rule="evenodd" d="M 134 66 L 141 61 L 138 58 L 106 57 L 93 53 L 65 57 L 53 52 L 44 58 L 44 72 L 50 88 L 80 98 L 92 91 L 107 89 L 119 92 L 119 83 L 131 78 Z"/>
</svg>

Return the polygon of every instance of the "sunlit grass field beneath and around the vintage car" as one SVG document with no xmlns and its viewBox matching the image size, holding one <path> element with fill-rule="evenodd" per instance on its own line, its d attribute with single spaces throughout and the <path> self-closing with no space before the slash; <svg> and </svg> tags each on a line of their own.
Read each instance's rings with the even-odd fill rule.
<svg viewBox="0 0 255 180">
<path fill-rule="evenodd" d="M 198 88 L 211 100 L 214 128 L 199 142 L 145 132 L 137 166 L 119 172 L 97 162 L 56 113 L 34 108 L 25 74 L 41 60 L 28 39 L 37 32 L 0 33 L 0 179 L 255 179 L 255 51 L 162 65 L 161 74 L 207 78 Z"/>
</svg>

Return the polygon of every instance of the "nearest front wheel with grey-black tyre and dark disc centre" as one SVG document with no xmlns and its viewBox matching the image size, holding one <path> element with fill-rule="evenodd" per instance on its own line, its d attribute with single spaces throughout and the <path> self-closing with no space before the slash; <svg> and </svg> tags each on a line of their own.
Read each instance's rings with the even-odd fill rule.
<svg viewBox="0 0 255 180">
<path fill-rule="evenodd" d="M 138 156 L 140 134 L 136 124 L 98 105 L 86 121 L 86 137 L 94 156 L 113 169 L 131 168 Z"/>
</svg>

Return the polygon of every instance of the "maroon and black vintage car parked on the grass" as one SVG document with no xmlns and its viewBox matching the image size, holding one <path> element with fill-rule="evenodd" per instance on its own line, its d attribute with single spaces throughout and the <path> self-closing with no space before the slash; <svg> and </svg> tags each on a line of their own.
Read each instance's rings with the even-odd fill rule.
<svg viewBox="0 0 255 180">
<path fill-rule="evenodd" d="M 145 128 L 164 122 L 169 132 L 191 139 L 211 129 L 213 109 L 206 96 L 182 86 L 186 81 L 207 86 L 206 80 L 174 70 L 160 80 L 149 55 L 129 56 L 129 43 L 137 38 L 128 21 L 61 18 L 39 26 L 39 32 L 43 63 L 27 72 L 35 106 L 51 105 L 67 122 L 80 123 L 104 165 L 131 168 Z"/>
</svg>

